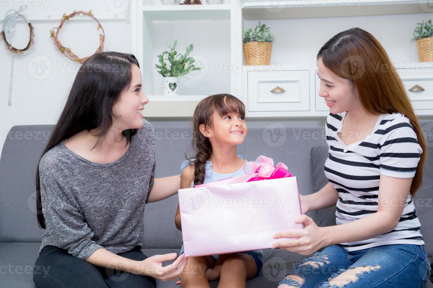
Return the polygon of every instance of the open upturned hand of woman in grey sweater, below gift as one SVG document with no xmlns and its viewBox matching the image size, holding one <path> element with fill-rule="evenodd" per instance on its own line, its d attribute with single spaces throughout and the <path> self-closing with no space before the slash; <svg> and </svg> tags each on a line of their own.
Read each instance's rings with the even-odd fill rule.
<svg viewBox="0 0 433 288">
<path fill-rule="evenodd" d="M 163 267 L 162 262 L 175 259 L 176 253 L 155 255 L 138 261 L 135 274 L 150 276 L 162 281 L 173 280 L 180 277 L 187 264 L 188 257 L 182 253 L 172 264 Z"/>
</svg>

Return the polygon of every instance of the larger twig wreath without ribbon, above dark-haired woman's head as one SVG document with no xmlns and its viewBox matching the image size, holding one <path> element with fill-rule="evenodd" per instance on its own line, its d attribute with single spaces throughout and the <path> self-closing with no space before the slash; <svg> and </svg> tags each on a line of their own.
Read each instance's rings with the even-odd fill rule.
<svg viewBox="0 0 433 288">
<path fill-rule="evenodd" d="M 75 54 L 71 51 L 71 48 L 68 48 L 68 47 L 63 46 L 63 45 L 60 43 L 60 41 L 58 40 L 58 38 L 57 38 L 58 32 L 60 31 L 61 26 L 63 26 L 63 23 L 65 23 L 66 20 L 69 21 L 70 18 L 74 17 L 74 16 L 77 15 L 77 14 L 82 14 L 82 15 L 90 16 L 90 17 L 92 17 L 93 19 L 95 19 L 96 22 L 98 22 L 98 28 L 97 28 L 97 30 L 99 30 L 99 28 L 101 28 L 103 35 L 102 35 L 102 34 L 99 35 L 100 46 L 99 46 L 99 48 L 95 51 L 95 53 L 102 52 L 103 49 L 104 49 L 105 32 L 104 32 L 104 29 L 102 28 L 102 25 L 101 25 L 101 23 L 99 22 L 99 20 L 96 19 L 95 16 L 93 16 L 93 14 L 92 14 L 92 10 L 90 10 L 89 12 L 84 12 L 84 11 L 74 11 L 74 12 L 72 12 L 72 13 L 69 14 L 69 15 L 66 15 L 66 13 L 63 13 L 63 17 L 62 17 L 61 20 L 60 20 L 60 25 L 58 25 L 57 28 L 53 28 L 52 30 L 50 30 L 50 37 L 51 37 L 52 40 L 54 41 L 54 46 L 56 47 L 56 49 L 57 49 L 58 51 L 60 51 L 60 53 L 63 53 L 63 54 L 65 54 L 65 56 L 68 57 L 69 59 L 74 60 L 75 62 L 79 62 L 79 63 L 82 64 L 82 63 L 84 63 L 84 61 L 86 61 L 86 60 L 87 60 L 90 56 L 92 56 L 93 54 L 90 55 L 90 56 L 87 56 L 87 57 L 80 58 L 80 57 L 78 57 L 77 55 L 75 55 Z M 54 29 L 57 29 L 57 30 L 54 31 Z M 94 53 L 94 54 L 95 54 L 95 53 Z"/>
</svg>

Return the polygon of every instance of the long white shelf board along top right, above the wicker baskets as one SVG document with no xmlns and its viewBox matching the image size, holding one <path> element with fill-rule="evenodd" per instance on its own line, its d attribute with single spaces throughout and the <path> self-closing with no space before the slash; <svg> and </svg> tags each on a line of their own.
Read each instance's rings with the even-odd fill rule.
<svg viewBox="0 0 433 288">
<path fill-rule="evenodd" d="M 247 0 L 245 20 L 432 13 L 429 0 Z"/>
</svg>

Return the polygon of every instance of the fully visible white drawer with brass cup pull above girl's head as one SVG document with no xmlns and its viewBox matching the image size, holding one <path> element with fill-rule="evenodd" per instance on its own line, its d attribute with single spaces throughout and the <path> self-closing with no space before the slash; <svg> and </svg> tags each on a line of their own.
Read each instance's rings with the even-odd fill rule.
<svg viewBox="0 0 433 288">
<path fill-rule="evenodd" d="M 310 111 L 309 70 L 249 71 L 248 111 Z M 284 92 L 271 92 L 275 87 Z"/>
</svg>

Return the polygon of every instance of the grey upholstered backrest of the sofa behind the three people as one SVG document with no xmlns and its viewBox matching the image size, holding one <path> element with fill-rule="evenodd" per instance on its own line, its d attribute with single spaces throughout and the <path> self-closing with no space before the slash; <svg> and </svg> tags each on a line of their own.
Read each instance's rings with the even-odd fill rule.
<svg viewBox="0 0 433 288">
<path fill-rule="evenodd" d="M 424 126 L 429 125 L 433 127 L 433 122 Z M 53 125 L 14 126 L 6 137 L 0 158 L 0 242 L 40 242 L 42 239 L 44 230 L 36 221 L 35 172 L 52 129 Z M 431 137 L 432 134 L 426 135 Z M 430 147 L 433 146 L 433 139 L 427 141 Z M 297 176 L 300 193 L 307 195 L 320 189 L 313 184 L 311 148 L 325 144 L 322 127 L 291 128 L 271 123 L 267 127 L 249 128 L 245 142 L 238 147 L 238 154 L 249 161 L 266 155 L 275 163 L 285 163 L 289 171 Z M 191 129 L 155 127 L 155 145 L 155 177 L 178 175 L 185 151 L 191 151 Z M 433 172 L 427 173 L 430 173 L 427 177 L 431 179 L 424 176 L 424 182 L 433 185 Z M 174 225 L 177 204 L 178 197 L 174 195 L 146 205 L 143 248 L 181 246 L 182 235 Z M 307 215 L 319 221 L 317 211 Z M 332 209 L 321 213 L 320 221 L 323 222 L 325 217 L 330 221 L 335 218 Z"/>
</svg>

